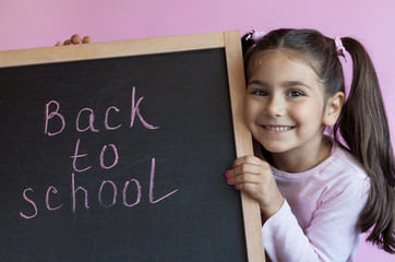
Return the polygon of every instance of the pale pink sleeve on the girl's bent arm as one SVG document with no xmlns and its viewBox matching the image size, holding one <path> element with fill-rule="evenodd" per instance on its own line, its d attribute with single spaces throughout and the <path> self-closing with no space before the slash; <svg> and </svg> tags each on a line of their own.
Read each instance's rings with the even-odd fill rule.
<svg viewBox="0 0 395 262">
<path fill-rule="evenodd" d="M 368 183 L 360 180 L 325 194 L 304 230 L 285 201 L 262 228 L 272 261 L 347 261 L 358 245 L 356 224 L 368 199 Z"/>
</svg>

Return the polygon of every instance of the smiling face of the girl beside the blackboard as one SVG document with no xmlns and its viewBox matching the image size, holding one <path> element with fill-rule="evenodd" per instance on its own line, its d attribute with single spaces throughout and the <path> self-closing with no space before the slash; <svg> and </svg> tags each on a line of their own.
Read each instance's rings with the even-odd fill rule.
<svg viewBox="0 0 395 262">
<path fill-rule="evenodd" d="M 314 71 L 291 55 L 267 51 L 252 64 L 246 120 L 268 152 L 308 156 L 322 144 L 325 102 Z"/>
</svg>

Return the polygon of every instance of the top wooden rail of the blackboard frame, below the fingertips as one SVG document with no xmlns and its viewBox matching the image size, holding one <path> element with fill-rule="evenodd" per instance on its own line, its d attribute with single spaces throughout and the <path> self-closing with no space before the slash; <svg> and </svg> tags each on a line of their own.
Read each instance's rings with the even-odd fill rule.
<svg viewBox="0 0 395 262">
<path fill-rule="evenodd" d="M 0 51 L 0 68 L 220 48 L 225 47 L 225 33 L 163 36 Z"/>
</svg>

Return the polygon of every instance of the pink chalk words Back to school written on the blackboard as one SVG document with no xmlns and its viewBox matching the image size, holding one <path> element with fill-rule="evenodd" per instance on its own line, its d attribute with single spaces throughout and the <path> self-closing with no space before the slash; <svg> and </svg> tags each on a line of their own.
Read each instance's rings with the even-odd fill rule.
<svg viewBox="0 0 395 262">
<path fill-rule="evenodd" d="M 135 120 L 139 119 L 140 122 L 143 124 L 143 127 L 147 130 L 156 130 L 159 127 L 148 123 L 145 118 L 142 116 L 140 110 L 140 105 L 143 102 L 144 97 L 140 97 L 136 99 L 135 96 L 136 88 L 133 86 L 132 88 L 132 97 L 131 97 L 131 118 L 130 118 L 130 128 L 133 128 Z M 104 129 L 107 131 L 113 131 L 122 127 L 122 123 L 113 123 L 109 124 L 109 119 L 111 116 L 118 114 L 120 109 L 116 106 L 110 106 L 106 109 L 105 116 L 104 116 Z M 52 99 L 49 103 L 45 105 L 45 121 L 44 121 L 44 134 L 48 136 L 53 135 L 60 135 L 62 131 L 65 129 L 68 124 L 68 120 L 65 118 L 65 114 L 62 114 L 62 108 L 59 102 Z M 60 123 L 60 126 L 59 126 Z M 83 107 L 75 117 L 75 131 L 79 133 L 82 132 L 93 132 L 97 133 L 100 131 L 98 128 L 99 124 L 95 123 L 95 111 L 89 107 Z M 69 193 L 62 192 L 62 195 L 70 195 L 71 203 L 71 212 L 75 213 L 77 210 L 77 206 L 81 206 L 85 210 L 91 209 L 91 204 L 93 201 L 95 201 L 95 193 L 92 192 L 92 187 L 89 187 L 89 190 L 87 188 L 84 188 L 85 186 L 81 186 L 76 182 L 77 176 L 83 175 L 87 170 L 92 169 L 93 165 L 92 163 L 81 164 L 80 162 L 82 158 L 87 157 L 88 154 L 84 153 L 84 150 L 82 148 L 82 144 L 84 142 L 82 139 L 77 139 L 74 146 L 74 153 L 69 157 L 71 158 L 71 187 L 68 189 L 70 190 Z M 86 148 L 85 148 L 86 150 Z M 91 153 L 89 153 L 91 154 Z M 119 153 L 118 148 L 115 144 L 105 144 L 101 147 L 101 151 L 97 154 L 98 155 L 98 162 L 99 166 L 104 171 L 109 170 L 117 166 L 119 163 Z M 109 158 L 109 160 L 105 160 Z M 91 158 L 92 159 L 92 158 Z M 164 201 L 165 199 L 169 198 L 170 195 L 175 194 L 179 189 L 175 189 L 171 192 L 164 194 L 161 196 L 155 198 L 154 196 L 154 189 L 155 189 L 155 171 L 156 171 L 156 158 L 153 157 L 151 159 L 151 170 L 149 170 L 149 188 L 146 190 L 147 192 L 147 199 L 151 204 L 157 204 L 160 201 Z M 69 172 L 70 174 L 70 172 Z M 132 188 L 135 187 L 135 190 Z M 106 188 L 106 199 L 104 198 L 104 190 Z M 64 191 L 61 190 L 61 191 Z M 135 196 L 128 194 L 128 192 L 134 192 Z M 119 186 L 116 184 L 115 181 L 110 179 L 103 180 L 100 186 L 98 187 L 96 191 L 97 195 L 97 203 L 99 206 L 108 209 L 117 204 L 117 200 L 119 195 L 122 198 L 121 205 L 125 207 L 133 207 L 137 205 L 141 202 L 142 195 L 144 193 L 144 189 L 141 186 L 141 182 L 135 179 L 131 178 L 128 179 L 122 188 L 122 194 L 119 194 Z M 28 195 L 27 195 L 28 194 Z M 110 195 L 110 198 L 108 196 Z M 40 210 L 43 207 L 38 206 L 45 206 L 47 211 L 56 212 L 57 210 L 63 209 L 64 203 L 67 200 L 64 196 L 60 196 L 58 189 L 51 184 L 47 188 L 45 200 L 40 200 L 39 194 L 35 194 L 35 191 L 33 188 L 26 188 L 22 193 L 23 199 L 26 201 L 29 207 L 26 209 L 26 211 L 21 211 L 20 216 L 25 219 L 31 219 L 36 217 Z M 129 198 L 129 199 L 128 199 Z M 45 205 L 40 204 L 40 201 L 45 201 Z M 80 207 L 79 207 L 80 209 Z"/>
</svg>

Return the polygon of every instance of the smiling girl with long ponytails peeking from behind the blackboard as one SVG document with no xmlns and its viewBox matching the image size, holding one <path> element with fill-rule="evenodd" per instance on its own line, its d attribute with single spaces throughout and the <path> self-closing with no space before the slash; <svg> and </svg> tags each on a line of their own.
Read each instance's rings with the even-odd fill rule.
<svg viewBox="0 0 395 262">
<path fill-rule="evenodd" d="M 362 45 L 311 29 L 251 31 L 242 40 L 255 156 L 236 159 L 226 177 L 259 202 L 271 260 L 352 261 L 368 230 L 369 241 L 394 253 L 394 155 Z M 348 99 L 346 50 L 354 62 Z"/>
</svg>

